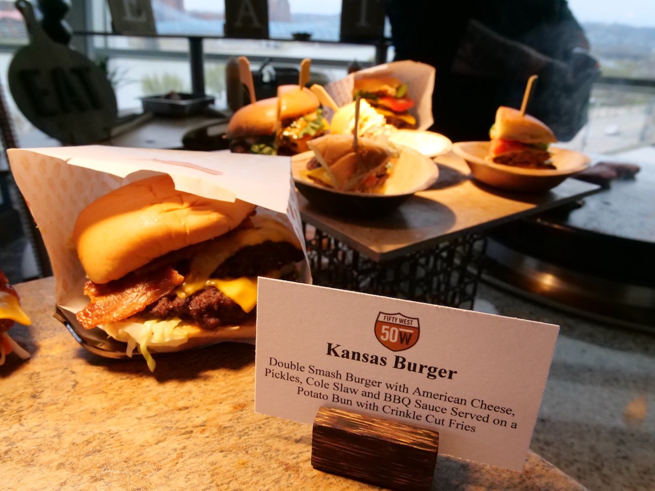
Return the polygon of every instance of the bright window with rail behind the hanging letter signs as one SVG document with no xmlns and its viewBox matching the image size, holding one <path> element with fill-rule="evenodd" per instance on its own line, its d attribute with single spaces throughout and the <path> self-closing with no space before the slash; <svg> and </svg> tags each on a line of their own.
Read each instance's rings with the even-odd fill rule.
<svg viewBox="0 0 655 491">
<path fill-rule="evenodd" d="M 93 29 L 109 31 L 111 17 L 102 0 L 92 0 Z M 352 61 L 373 64 L 375 47 L 337 43 L 341 0 L 269 1 L 267 40 L 224 39 L 225 4 L 208 0 L 153 0 L 161 37 L 94 36 L 98 58 L 108 60 L 121 109 L 140 105 L 140 97 L 168 90 L 191 90 L 189 35 L 206 36 L 202 43 L 206 92 L 225 104 L 225 64 L 231 56 L 248 56 L 254 71 L 274 64 L 297 67 L 312 58 L 312 77 L 327 83 L 346 74 Z M 307 42 L 289 42 L 309 35 Z M 272 60 L 272 61 L 269 61 Z M 183 64 L 187 63 L 184 67 Z"/>
</svg>

